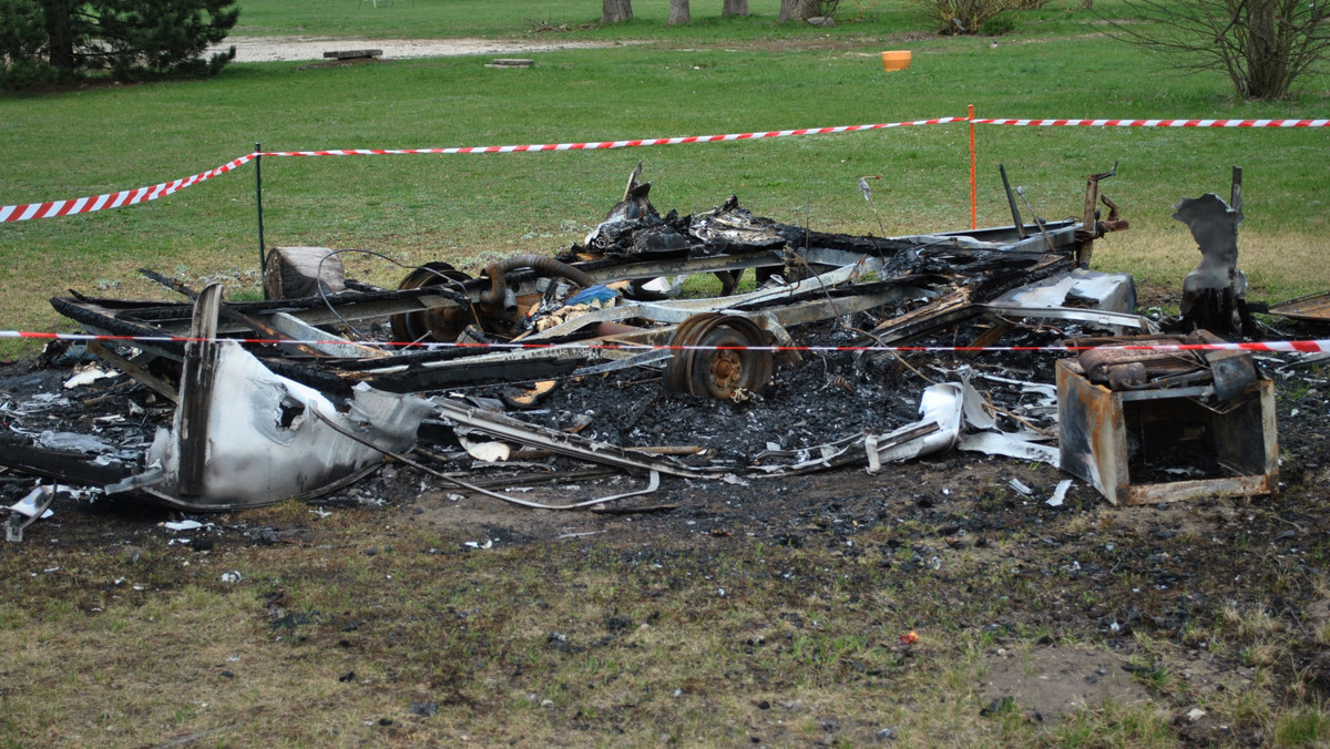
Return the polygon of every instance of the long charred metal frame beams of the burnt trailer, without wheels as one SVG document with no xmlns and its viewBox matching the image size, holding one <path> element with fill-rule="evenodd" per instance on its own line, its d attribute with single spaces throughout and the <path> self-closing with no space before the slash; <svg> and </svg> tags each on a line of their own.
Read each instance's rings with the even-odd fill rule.
<svg viewBox="0 0 1330 749">
<path fill-rule="evenodd" d="M 785 239 L 781 246 L 773 246 L 771 238 L 765 235 L 761 241 L 766 246 L 755 249 L 726 239 L 724 249 L 712 254 L 706 254 L 709 247 L 702 247 L 701 253 L 657 253 L 645 259 L 644 255 L 602 255 L 568 263 L 597 283 L 771 267 L 793 267 L 811 275 L 802 282 L 709 299 L 637 302 L 629 297 L 616 317 L 641 327 L 625 330 L 620 325 L 608 337 L 583 325 L 561 334 L 556 330 L 553 335 L 528 334 L 520 339 L 548 346 L 496 350 L 434 338 L 366 346 L 338 341 L 327 333 L 334 326 L 383 318 L 396 322 L 428 321 L 447 314 L 484 317 L 483 297 L 492 287 L 492 279 L 484 277 L 439 278 L 442 283 L 399 290 L 350 282 L 348 289 L 338 294 L 227 302 L 222 305 L 217 335 L 261 341 L 246 346 L 274 373 L 338 392 L 348 392 L 358 382 L 392 392 L 415 392 L 460 383 L 564 375 L 587 366 L 592 358 L 600 361 L 614 354 L 613 349 L 559 345 L 666 342 L 674 326 L 686 317 L 717 310 L 766 314 L 789 327 L 904 303 L 908 309 L 896 315 L 899 319 L 887 321 L 874 331 L 879 342 L 903 341 L 984 314 L 990 311 L 984 309 L 986 302 L 1012 287 L 1072 270 L 1088 258 L 1088 246 L 1103 231 L 1103 226 L 1096 233 L 1081 222 L 1061 221 L 875 238 L 774 226 L 803 241 L 794 245 L 781 237 Z M 548 289 L 549 277 L 536 269 L 519 269 L 504 274 L 503 282 L 519 299 L 539 299 Z M 180 285 L 174 287 L 189 291 Z M 134 346 L 146 353 L 144 358 L 184 361 L 190 302 L 124 301 L 76 293 L 56 297 L 51 303 L 90 333 L 136 339 Z M 311 341 L 317 343 L 309 343 Z"/>
</svg>

